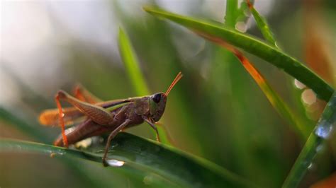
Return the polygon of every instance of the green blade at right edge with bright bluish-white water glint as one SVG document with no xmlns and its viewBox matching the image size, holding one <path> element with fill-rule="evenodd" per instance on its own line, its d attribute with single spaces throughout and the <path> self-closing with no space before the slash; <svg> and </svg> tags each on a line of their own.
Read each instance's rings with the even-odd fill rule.
<svg viewBox="0 0 336 188">
<path fill-rule="evenodd" d="M 320 151 L 319 148 L 325 147 L 328 144 L 330 135 L 335 135 L 336 129 L 336 92 L 327 103 L 322 117 L 318 121 L 314 131 L 310 134 L 306 145 L 298 155 L 296 162 L 289 172 L 283 187 L 298 187 L 304 175 L 308 170 L 309 165 L 313 164 L 315 156 Z"/>
</svg>

